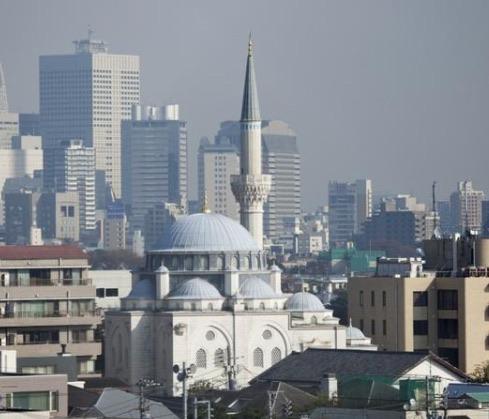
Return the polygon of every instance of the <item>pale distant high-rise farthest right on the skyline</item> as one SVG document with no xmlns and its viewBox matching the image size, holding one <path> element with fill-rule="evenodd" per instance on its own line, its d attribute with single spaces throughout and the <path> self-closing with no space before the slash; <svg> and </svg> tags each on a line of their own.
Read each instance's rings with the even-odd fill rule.
<svg viewBox="0 0 489 419">
<path fill-rule="evenodd" d="M 455 231 L 480 232 L 483 200 L 484 192 L 475 190 L 471 180 L 458 182 L 457 190 L 450 195 L 451 219 Z"/>
</svg>

